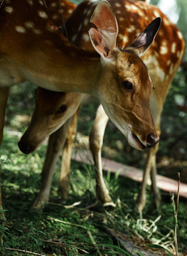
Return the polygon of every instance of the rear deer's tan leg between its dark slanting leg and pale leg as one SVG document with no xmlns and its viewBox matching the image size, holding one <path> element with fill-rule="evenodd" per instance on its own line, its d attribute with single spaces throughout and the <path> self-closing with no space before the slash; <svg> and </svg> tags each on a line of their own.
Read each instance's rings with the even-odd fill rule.
<svg viewBox="0 0 187 256">
<path fill-rule="evenodd" d="M 60 193 L 62 193 L 63 199 L 67 198 L 68 191 L 69 191 L 71 154 L 73 149 L 73 141 L 75 139 L 75 134 L 77 132 L 79 112 L 80 112 L 80 107 L 78 108 L 77 112 L 75 112 L 75 114 L 73 115 L 73 119 L 68 129 L 65 145 L 63 147 L 60 179 L 59 179 L 59 186 L 58 186 L 58 190 L 60 191 Z"/>
</svg>

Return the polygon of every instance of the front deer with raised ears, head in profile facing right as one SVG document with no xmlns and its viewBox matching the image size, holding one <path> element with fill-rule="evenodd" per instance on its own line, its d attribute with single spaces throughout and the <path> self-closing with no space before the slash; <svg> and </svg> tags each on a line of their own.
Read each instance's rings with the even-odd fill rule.
<svg viewBox="0 0 187 256">
<path fill-rule="evenodd" d="M 137 148 L 154 146 L 159 142 L 159 135 L 149 108 L 153 86 L 139 56 L 154 40 L 160 19 L 157 18 L 144 32 L 144 35 L 150 34 L 150 37 L 145 36 L 144 43 L 137 40 L 129 50 L 119 50 L 116 18 L 108 2 L 101 1 L 91 19 L 97 29 L 90 28 L 89 31 L 95 51 L 82 50 L 73 46 L 56 28 L 45 2 L 4 0 L 1 3 L 1 126 L 4 126 L 9 87 L 30 80 L 47 90 L 81 92 L 98 97 L 130 144 Z M 133 101 L 137 102 L 136 107 Z M 128 114 L 128 109 L 133 112 Z"/>
</svg>

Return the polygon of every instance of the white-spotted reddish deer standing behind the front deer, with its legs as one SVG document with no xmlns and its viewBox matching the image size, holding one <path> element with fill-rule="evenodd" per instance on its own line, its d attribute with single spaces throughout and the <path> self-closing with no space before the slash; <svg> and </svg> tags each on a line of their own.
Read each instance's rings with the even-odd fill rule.
<svg viewBox="0 0 187 256">
<path fill-rule="evenodd" d="M 139 3 L 139 1 L 111 1 L 112 8 L 117 15 L 117 21 L 119 23 L 119 36 L 118 43 L 119 46 L 127 47 L 133 39 L 137 36 L 137 33 L 140 30 L 144 29 L 144 26 L 149 23 L 156 16 L 161 16 L 163 19 L 163 23 L 161 25 L 161 29 L 156 36 L 156 39 L 147 50 L 147 52 L 142 57 L 144 62 L 149 68 L 149 73 L 153 84 L 156 85 L 156 90 L 151 95 L 151 111 L 154 116 L 154 122 L 156 123 L 156 129 L 159 132 L 159 124 L 161 117 L 161 110 L 164 105 L 164 100 L 169 90 L 169 85 L 171 84 L 171 80 L 178 69 L 178 66 L 181 63 L 183 51 L 184 51 L 184 41 L 181 32 L 178 31 L 169 19 L 161 13 L 161 11 L 156 6 L 151 6 L 149 4 Z M 68 37 L 70 41 L 73 41 L 76 45 L 84 48 L 90 47 L 90 42 L 88 41 L 87 31 L 90 28 L 90 25 L 87 21 L 90 18 L 90 14 L 92 13 L 92 9 L 95 8 L 95 4 L 91 4 L 89 1 L 85 1 L 78 6 L 67 24 Z M 80 16 L 81 14 L 84 14 Z M 87 26 L 85 25 L 87 24 Z M 167 35 L 166 37 L 164 35 Z M 36 100 L 37 102 L 37 100 Z M 40 110 L 40 105 L 36 106 L 35 114 L 33 115 L 33 120 L 36 121 L 37 124 L 37 116 L 36 113 Z M 63 118 L 63 115 L 61 116 Z M 78 117 L 78 113 L 75 115 Z M 96 174 L 97 174 L 97 197 L 102 201 L 102 203 L 107 203 L 111 199 L 109 197 L 109 193 L 105 186 L 105 181 L 102 177 L 102 163 L 101 163 L 101 147 L 102 147 L 102 139 L 105 133 L 105 126 L 107 124 L 108 117 L 105 115 L 102 107 L 100 106 L 97 110 L 97 117 L 95 119 L 95 124 L 92 129 L 92 133 L 90 135 L 90 149 L 92 151 L 95 166 L 96 166 Z M 51 120 L 53 122 L 53 120 Z M 70 122 L 70 120 L 68 121 Z M 30 127 L 28 128 L 26 134 L 21 139 L 21 144 L 25 145 L 25 149 L 28 149 L 28 152 L 36 149 L 36 146 L 41 143 L 41 140 L 46 137 L 46 129 L 45 126 L 43 128 L 44 135 L 43 137 L 34 137 L 35 144 L 33 142 L 33 134 L 37 132 L 37 126 L 31 122 Z M 60 149 L 63 147 L 63 142 L 65 141 L 65 130 L 67 129 L 66 124 L 59 129 L 56 134 L 53 134 L 50 137 L 50 142 L 48 144 L 48 151 L 46 154 L 46 161 L 43 167 L 43 171 L 46 172 L 46 178 L 44 178 L 43 185 L 41 191 L 34 203 L 34 207 L 38 208 L 43 203 L 48 201 L 48 196 L 50 192 L 50 182 L 53 176 L 55 161 L 58 159 L 58 155 L 60 154 Z M 63 196 L 67 196 L 68 191 L 68 177 L 69 177 L 69 166 L 67 159 L 70 162 L 70 154 L 71 154 L 71 145 L 73 143 L 72 133 L 75 134 L 75 125 L 76 118 L 73 119 L 73 126 L 71 126 L 68 134 L 68 142 L 66 145 L 66 150 L 63 151 L 65 156 L 63 156 L 63 164 L 68 166 L 68 168 L 62 167 L 61 171 L 61 181 L 60 188 L 63 191 Z M 137 124 L 138 125 L 138 124 Z M 63 130 L 64 129 L 64 130 Z M 49 135 L 50 133 L 48 133 Z M 27 146 L 28 148 L 27 148 Z M 22 148 L 23 149 L 23 148 Z M 24 149 L 23 149 L 24 151 Z M 157 147 L 153 149 L 149 149 L 146 169 L 144 171 L 144 180 L 141 187 L 141 193 L 139 193 L 137 206 L 139 211 L 144 208 L 145 203 L 145 188 L 146 188 L 146 180 L 151 172 L 151 179 L 154 186 L 154 195 L 156 198 L 156 205 L 159 205 L 159 192 L 156 188 L 156 151 Z M 65 171 L 66 170 L 66 171 Z M 50 175 L 49 175 L 50 174 Z"/>
</svg>

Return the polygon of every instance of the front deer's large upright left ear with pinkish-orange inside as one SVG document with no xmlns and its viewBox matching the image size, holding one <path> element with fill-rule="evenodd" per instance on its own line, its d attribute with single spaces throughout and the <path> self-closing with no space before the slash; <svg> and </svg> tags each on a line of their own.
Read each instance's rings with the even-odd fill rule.
<svg viewBox="0 0 187 256">
<path fill-rule="evenodd" d="M 102 58 L 111 58 L 112 51 L 117 50 L 118 26 L 114 11 L 107 1 L 97 4 L 90 22 L 97 28 L 90 28 L 89 31 L 92 46 Z"/>
</svg>

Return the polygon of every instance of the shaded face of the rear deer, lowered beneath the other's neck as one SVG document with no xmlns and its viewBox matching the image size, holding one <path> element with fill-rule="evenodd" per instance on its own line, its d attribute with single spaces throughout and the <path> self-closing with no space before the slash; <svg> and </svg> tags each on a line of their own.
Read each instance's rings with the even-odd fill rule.
<svg viewBox="0 0 187 256">
<path fill-rule="evenodd" d="M 31 153 L 50 134 L 60 128 L 80 105 L 80 93 L 52 92 L 38 87 L 36 106 L 31 123 L 18 146 L 25 154 Z"/>
</svg>

